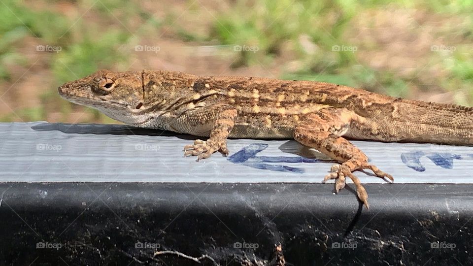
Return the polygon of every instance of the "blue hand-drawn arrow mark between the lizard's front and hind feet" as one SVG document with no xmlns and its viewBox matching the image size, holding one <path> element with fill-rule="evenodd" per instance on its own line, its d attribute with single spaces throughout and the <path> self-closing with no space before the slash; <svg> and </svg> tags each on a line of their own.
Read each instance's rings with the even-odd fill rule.
<svg viewBox="0 0 473 266">
<path fill-rule="evenodd" d="M 265 143 L 254 143 L 243 147 L 241 150 L 228 157 L 227 160 L 234 164 L 241 164 L 257 169 L 264 169 L 278 172 L 293 172 L 293 173 L 304 173 L 303 168 L 291 167 L 284 165 L 270 165 L 265 163 L 318 163 L 322 162 L 318 159 L 304 158 L 302 156 L 297 157 L 285 157 L 285 156 L 256 156 L 259 152 L 268 148 L 268 144 Z"/>
</svg>

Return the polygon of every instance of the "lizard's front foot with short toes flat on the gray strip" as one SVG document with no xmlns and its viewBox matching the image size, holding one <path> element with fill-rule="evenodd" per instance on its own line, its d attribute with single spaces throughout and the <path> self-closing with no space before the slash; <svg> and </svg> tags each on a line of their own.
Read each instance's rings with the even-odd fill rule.
<svg viewBox="0 0 473 266">
<path fill-rule="evenodd" d="M 210 157 L 214 152 L 219 151 L 224 156 L 227 156 L 230 151 L 227 148 L 225 140 L 216 141 L 208 139 L 196 139 L 194 144 L 184 146 L 184 157 L 197 156 L 197 161 Z"/>
</svg>

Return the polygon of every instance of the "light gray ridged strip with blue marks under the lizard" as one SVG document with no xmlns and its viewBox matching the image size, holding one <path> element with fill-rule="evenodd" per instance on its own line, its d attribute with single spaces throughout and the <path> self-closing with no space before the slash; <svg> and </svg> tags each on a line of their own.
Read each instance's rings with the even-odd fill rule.
<svg viewBox="0 0 473 266">
<path fill-rule="evenodd" d="M 1 181 L 314 182 L 333 163 L 294 140 L 230 139 L 230 156 L 183 158 L 193 136 L 124 125 L 0 123 Z M 473 147 L 353 141 L 396 183 L 473 183 Z M 380 178 L 356 172 L 364 183 Z"/>
</svg>

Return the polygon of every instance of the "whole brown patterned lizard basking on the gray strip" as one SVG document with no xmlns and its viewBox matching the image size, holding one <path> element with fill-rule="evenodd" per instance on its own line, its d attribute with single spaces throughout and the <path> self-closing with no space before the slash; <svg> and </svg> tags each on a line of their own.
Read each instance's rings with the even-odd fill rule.
<svg viewBox="0 0 473 266">
<path fill-rule="evenodd" d="M 368 163 L 348 139 L 473 144 L 473 107 L 406 100 L 317 81 L 198 76 L 177 71 L 99 70 L 58 88 L 61 97 L 125 124 L 187 133 L 197 139 L 184 156 L 229 154 L 227 138 L 295 139 L 338 162 L 323 182 L 346 177 L 369 209 L 356 170 L 392 175 Z M 387 179 L 385 179 L 387 178 Z"/>
</svg>

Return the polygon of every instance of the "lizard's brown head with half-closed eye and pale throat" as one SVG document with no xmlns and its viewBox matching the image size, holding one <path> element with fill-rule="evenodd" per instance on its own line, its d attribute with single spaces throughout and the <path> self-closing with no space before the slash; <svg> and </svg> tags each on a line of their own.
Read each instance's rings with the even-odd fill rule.
<svg viewBox="0 0 473 266">
<path fill-rule="evenodd" d="M 127 120 L 143 102 L 142 73 L 99 70 L 60 86 L 58 92 L 66 100 L 96 108 L 124 123 L 135 124 L 135 121 Z"/>
</svg>

